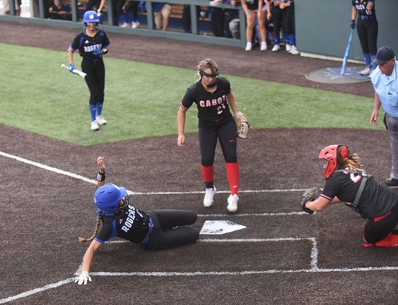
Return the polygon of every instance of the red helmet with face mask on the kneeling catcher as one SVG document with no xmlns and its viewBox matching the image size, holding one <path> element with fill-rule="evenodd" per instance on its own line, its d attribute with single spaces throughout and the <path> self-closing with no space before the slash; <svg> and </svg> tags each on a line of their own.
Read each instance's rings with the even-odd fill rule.
<svg viewBox="0 0 398 305">
<path fill-rule="evenodd" d="M 337 154 L 337 149 L 341 147 L 341 154 Z M 345 158 L 350 156 L 350 150 L 347 146 L 341 144 L 329 145 L 323 148 L 319 153 L 319 169 L 323 174 L 323 178 L 326 180 L 334 172 L 337 165 L 339 165 Z M 325 163 L 328 165 L 325 169 Z"/>
</svg>

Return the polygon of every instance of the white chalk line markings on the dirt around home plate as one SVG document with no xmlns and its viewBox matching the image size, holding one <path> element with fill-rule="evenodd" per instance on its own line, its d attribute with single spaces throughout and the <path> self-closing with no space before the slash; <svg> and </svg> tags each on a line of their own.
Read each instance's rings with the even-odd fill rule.
<svg viewBox="0 0 398 305">
<path fill-rule="evenodd" d="M 19 162 L 23 162 L 32 166 L 36 166 L 51 172 L 55 172 L 61 175 L 69 176 L 75 179 L 79 179 L 91 184 L 97 184 L 97 181 L 94 179 L 89 179 L 81 175 L 77 175 L 71 172 L 63 171 L 57 169 L 55 167 L 47 166 L 42 163 L 34 162 L 31 160 L 27 160 L 15 155 L 10 155 L 5 152 L 0 151 L 0 155 L 3 157 L 11 158 L 17 160 Z M 241 190 L 241 193 L 278 193 L 278 192 L 300 192 L 306 189 L 285 189 L 285 190 Z M 203 191 L 191 191 L 191 192 L 132 192 L 127 191 L 127 193 L 131 195 L 184 195 L 184 194 L 202 194 Z M 229 193 L 229 191 L 217 191 L 217 193 Z M 247 214 L 236 214 L 234 216 L 279 216 L 279 215 L 292 215 L 292 214 L 305 214 L 304 212 L 281 212 L 281 213 L 247 213 Z M 202 214 L 198 215 L 201 217 L 205 216 L 227 216 L 226 214 Z M 398 270 L 397 266 L 384 266 L 384 267 L 356 267 L 356 268 L 318 268 L 317 267 L 317 255 L 318 250 L 316 248 L 316 242 L 314 238 L 264 238 L 264 239 L 202 239 L 199 242 L 271 242 L 271 241 L 289 241 L 289 240 L 301 240 L 307 239 L 312 242 L 311 249 L 311 268 L 310 269 L 291 269 L 291 270 L 283 270 L 283 269 L 273 269 L 273 270 L 249 270 L 249 271 L 208 271 L 208 272 L 91 272 L 91 275 L 96 276 L 217 276 L 217 275 L 250 275 L 250 274 L 275 274 L 275 273 L 319 273 L 319 272 L 354 272 L 354 271 L 383 271 L 383 270 Z M 124 242 L 124 241 L 114 241 L 114 242 Z M 82 270 L 82 265 L 79 266 L 75 275 L 79 275 Z M 62 280 L 57 283 L 48 284 L 41 288 L 36 288 L 33 290 L 26 291 L 24 293 L 0 299 L 0 304 L 4 304 L 7 302 L 11 302 L 20 298 L 28 297 L 30 295 L 59 287 L 64 284 L 71 283 L 75 280 L 75 278 L 69 278 Z"/>
</svg>

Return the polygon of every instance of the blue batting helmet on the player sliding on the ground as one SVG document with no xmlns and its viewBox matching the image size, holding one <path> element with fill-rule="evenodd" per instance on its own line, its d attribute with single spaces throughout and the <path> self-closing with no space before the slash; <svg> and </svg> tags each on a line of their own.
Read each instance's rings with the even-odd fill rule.
<svg viewBox="0 0 398 305">
<path fill-rule="evenodd" d="M 115 212 L 128 204 L 128 195 L 125 188 L 108 183 L 97 189 L 94 202 L 102 212 Z"/>
</svg>

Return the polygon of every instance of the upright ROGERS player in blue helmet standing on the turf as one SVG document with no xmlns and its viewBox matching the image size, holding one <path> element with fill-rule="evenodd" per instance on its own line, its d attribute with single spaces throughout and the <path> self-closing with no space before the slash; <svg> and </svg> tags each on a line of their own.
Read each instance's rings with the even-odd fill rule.
<svg viewBox="0 0 398 305">
<path fill-rule="evenodd" d="M 86 28 L 75 37 L 67 50 L 69 72 L 74 73 L 73 53 L 79 50 L 80 56 L 83 57 L 82 71 L 87 74 L 85 80 L 90 90 L 91 130 L 99 130 L 99 125 L 106 124 L 101 115 L 105 88 L 105 66 L 102 55 L 108 52 L 107 47 L 110 42 L 105 32 L 97 28 L 100 19 L 96 11 L 86 11 L 83 22 Z"/>
</svg>

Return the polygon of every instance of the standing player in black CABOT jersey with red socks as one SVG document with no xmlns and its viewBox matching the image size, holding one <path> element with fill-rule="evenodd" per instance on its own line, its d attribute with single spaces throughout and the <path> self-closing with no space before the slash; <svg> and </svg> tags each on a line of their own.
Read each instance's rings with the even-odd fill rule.
<svg viewBox="0 0 398 305">
<path fill-rule="evenodd" d="M 202 60 L 198 66 L 200 79 L 187 89 L 177 115 L 178 140 L 180 147 L 185 147 L 184 126 L 186 112 L 193 103 L 198 107 L 199 146 L 201 172 L 206 194 L 204 206 L 211 206 L 216 189 L 214 178 L 214 153 L 217 139 L 220 141 L 226 163 L 226 172 L 231 189 L 227 209 L 238 209 L 239 166 L 236 153 L 236 125 L 229 107 L 238 113 L 231 85 L 226 78 L 218 78 L 218 66 L 211 59 Z"/>
</svg>

